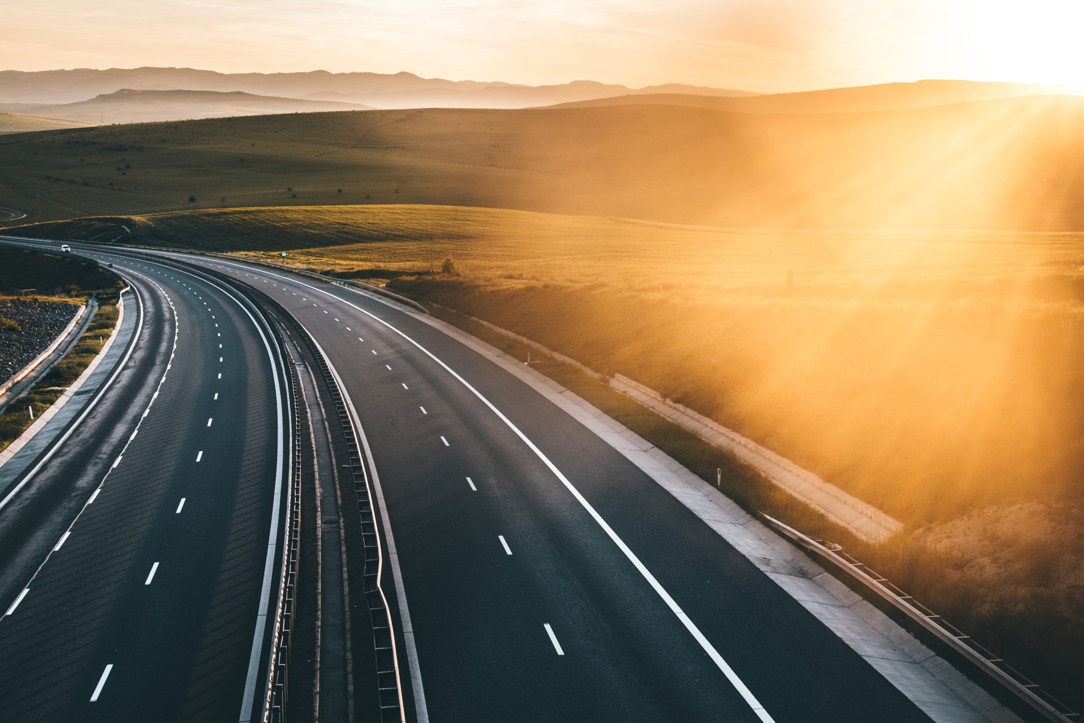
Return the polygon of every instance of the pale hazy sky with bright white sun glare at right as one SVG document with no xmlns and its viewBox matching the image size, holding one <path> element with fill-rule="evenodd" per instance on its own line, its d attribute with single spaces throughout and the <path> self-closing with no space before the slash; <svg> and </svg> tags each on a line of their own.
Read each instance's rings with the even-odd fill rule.
<svg viewBox="0 0 1084 723">
<path fill-rule="evenodd" d="M 760 91 L 1084 83 L 1084 0 L 8 0 L 0 68 L 172 65 Z"/>
</svg>

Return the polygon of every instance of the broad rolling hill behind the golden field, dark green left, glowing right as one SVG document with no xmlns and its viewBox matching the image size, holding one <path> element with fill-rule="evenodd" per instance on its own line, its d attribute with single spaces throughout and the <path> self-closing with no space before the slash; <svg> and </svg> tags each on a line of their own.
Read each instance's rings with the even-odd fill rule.
<svg viewBox="0 0 1084 723">
<path fill-rule="evenodd" d="M 1060 95 L 841 114 L 254 116 L 0 139 L 0 198 L 30 221 L 395 203 L 731 228 L 1084 230 L 1081 127 L 1084 98 Z"/>
</svg>

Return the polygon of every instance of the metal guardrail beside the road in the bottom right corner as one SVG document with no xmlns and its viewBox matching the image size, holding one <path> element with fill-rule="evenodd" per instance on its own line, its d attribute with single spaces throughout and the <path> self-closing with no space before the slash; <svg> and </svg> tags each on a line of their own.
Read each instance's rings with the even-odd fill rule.
<svg viewBox="0 0 1084 723">
<path fill-rule="evenodd" d="M 971 662 L 997 683 L 1003 689 L 1014 694 L 1028 709 L 1041 715 L 1044 720 L 1056 723 L 1074 723 L 1081 720 L 1080 713 L 1043 690 L 1036 683 L 1023 673 L 1015 670 L 1002 658 L 976 643 L 944 618 L 903 592 L 887 579 L 849 555 L 839 545 L 824 540 L 806 537 L 798 530 L 784 525 L 779 520 L 760 513 L 760 516 L 773 528 L 801 545 L 804 550 L 829 560 L 837 569 L 848 572 L 868 590 L 876 593 L 907 618 L 918 623 L 940 642 Z"/>
</svg>

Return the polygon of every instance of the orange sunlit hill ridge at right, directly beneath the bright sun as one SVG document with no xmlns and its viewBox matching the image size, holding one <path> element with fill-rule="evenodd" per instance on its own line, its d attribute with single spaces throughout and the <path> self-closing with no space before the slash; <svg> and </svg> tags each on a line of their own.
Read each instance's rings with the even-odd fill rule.
<svg viewBox="0 0 1084 723">
<path fill-rule="evenodd" d="M 709 98 L 706 94 L 663 93 L 653 95 L 619 95 L 562 103 L 554 107 L 596 107 L 604 105 L 688 105 L 735 113 L 857 113 L 918 108 L 950 103 L 988 101 L 998 98 L 1043 95 L 1050 93 L 1081 94 L 1084 88 L 1069 86 L 1036 86 L 1019 82 L 981 82 L 975 80 L 918 80 L 889 82 L 879 86 L 831 88 L 800 93 L 775 93 L 745 98 Z"/>
</svg>

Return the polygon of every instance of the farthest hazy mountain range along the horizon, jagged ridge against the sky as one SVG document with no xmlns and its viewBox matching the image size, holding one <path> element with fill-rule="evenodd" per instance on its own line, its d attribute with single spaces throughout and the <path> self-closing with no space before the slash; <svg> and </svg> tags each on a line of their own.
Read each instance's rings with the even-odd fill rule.
<svg viewBox="0 0 1084 723">
<path fill-rule="evenodd" d="M 641 89 L 577 80 L 559 86 L 421 78 L 412 73 L 234 73 L 193 68 L 108 68 L 96 70 L 0 70 L 0 103 L 60 104 L 85 101 L 121 89 L 241 91 L 257 95 L 304 98 L 401 107 L 526 107 L 609 98 L 627 93 L 753 95 L 750 91 L 669 83 Z"/>
</svg>

